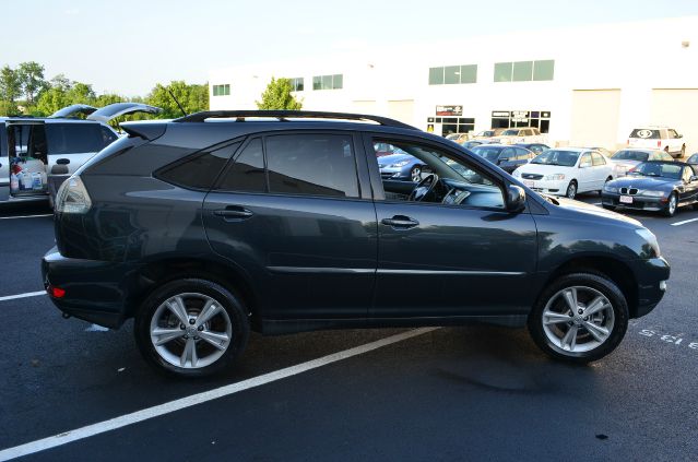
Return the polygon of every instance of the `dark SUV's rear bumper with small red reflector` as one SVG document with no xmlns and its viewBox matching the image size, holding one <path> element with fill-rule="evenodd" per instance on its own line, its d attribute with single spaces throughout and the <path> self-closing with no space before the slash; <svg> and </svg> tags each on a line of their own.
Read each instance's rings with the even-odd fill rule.
<svg viewBox="0 0 698 462">
<path fill-rule="evenodd" d="M 66 258 L 54 247 L 42 259 L 42 276 L 48 289 L 66 291 L 62 298 L 49 293 L 62 312 L 95 324 L 118 329 L 128 313 L 135 268 L 132 264 Z"/>
</svg>

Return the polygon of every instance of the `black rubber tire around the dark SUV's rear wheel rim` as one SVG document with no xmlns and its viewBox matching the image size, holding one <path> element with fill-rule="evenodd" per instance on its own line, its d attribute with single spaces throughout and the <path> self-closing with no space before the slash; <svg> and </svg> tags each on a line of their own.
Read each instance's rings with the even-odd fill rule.
<svg viewBox="0 0 698 462">
<path fill-rule="evenodd" d="M 217 359 L 213 360 L 211 364 L 203 367 L 180 367 L 170 364 L 163 355 L 161 355 L 161 353 L 158 353 L 153 341 L 151 340 L 151 322 L 153 321 L 153 317 L 158 312 L 158 308 L 161 308 L 161 306 L 164 305 L 166 300 L 179 294 L 196 294 L 210 297 L 215 303 L 217 303 L 225 310 L 225 315 L 227 315 L 226 319 L 225 315 L 223 312 L 220 312 L 220 315 L 212 317 L 212 322 L 223 322 L 225 325 L 229 325 L 232 334 L 230 340 L 229 342 L 227 342 L 227 346 L 225 347 L 225 351 L 222 353 L 222 355 Z M 192 308 L 187 307 L 188 312 Z M 161 312 L 164 311 L 161 310 Z M 196 313 L 196 308 L 192 312 Z M 189 313 L 191 315 L 191 312 Z M 173 312 L 167 312 L 167 315 L 170 318 L 174 316 Z M 161 316 L 162 315 L 158 315 L 158 318 Z M 177 318 L 174 318 L 174 322 L 178 323 Z M 184 325 L 184 323 L 181 325 Z M 174 330 L 171 324 L 167 328 Z M 182 330 L 182 334 L 184 333 L 185 331 Z M 206 280 L 180 279 L 164 284 L 162 287 L 155 289 L 143 301 L 139 312 L 135 316 L 134 335 L 135 343 L 138 344 L 143 358 L 157 371 L 177 377 L 204 377 L 220 372 L 233 365 L 235 359 L 245 351 L 245 347 L 247 346 L 247 341 L 250 335 L 250 325 L 247 310 L 245 309 L 241 299 L 230 293 L 230 291 Z M 214 352 L 212 356 L 215 356 L 216 348 L 211 347 L 198 336 L 192 336 L 192 339 L 197 339 L 196 345 L 200 345 L 202 348 L 208 347 L 209 350 Z M 167 345 L 170 345 L 175 342 L 179 343 L 173 345 L 174 347 L 181 347 L 184 350 L 184 345 L 181 343 L 187 341 L 176 339 L 169 341 Z M 198 350 L 198 347 L 196 348 Z M 193 365 L 193 360 L 191 362 L 191 364 Z"/>
</svg>

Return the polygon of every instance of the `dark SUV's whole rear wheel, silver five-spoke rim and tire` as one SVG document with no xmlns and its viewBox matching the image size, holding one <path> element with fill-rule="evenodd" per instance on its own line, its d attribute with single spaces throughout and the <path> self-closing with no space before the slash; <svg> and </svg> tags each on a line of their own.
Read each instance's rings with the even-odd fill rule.
<svg viewBox="0 0 698 462">
<path fill-rule="evenodd" d="M 135 342 L 145 360 L 179 377 L 208 376 L 230 366 L 249 332 L 241 301 L 205 280 L 163 285 L 135 316 Z"/>
</svg>

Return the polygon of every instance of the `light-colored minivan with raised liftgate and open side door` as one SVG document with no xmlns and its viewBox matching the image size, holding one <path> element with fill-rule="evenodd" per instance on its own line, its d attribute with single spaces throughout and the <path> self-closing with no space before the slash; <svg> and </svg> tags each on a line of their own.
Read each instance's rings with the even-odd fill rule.
<svg viewBox="0 0 698 462">
<path fill-rule="evenodd" d="M 48 118 L 0 118 L 0 203 L 52 202 L 70 175 L 119 138 L 109 120 L 161 110 L 140 103 L 116 103 L 100 109 L 72 105 Z M 87 116 L 79 119 L 78 114 Z"/>
</svg>

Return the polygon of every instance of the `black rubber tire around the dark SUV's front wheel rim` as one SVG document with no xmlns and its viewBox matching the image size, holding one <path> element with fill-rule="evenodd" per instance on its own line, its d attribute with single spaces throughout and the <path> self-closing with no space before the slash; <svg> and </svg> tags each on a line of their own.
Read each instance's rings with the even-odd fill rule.
<svg viewBox="0 0 698 462">
<path fill-rule="evenodd" d="M 543 312 L 548 301 L 566 287 L 584 286 L 601 293 L 611 303 L 613 311 L 613 329 L 603 343 L 587 352 L 564 351 L 549 340 L 543 328 Z M 613 352 L 628 329 L 628 304 L 618 286 L 605 275 L 593 271 L 578 272 L 558 277 L 547 285 L 533 310 L 529 315 L 529 332 L 535 344 L 555 359 L 563 359 L 576 364 L 585 364 L 601 359 Z M 572 318 L 570 318 L 572 319 Z M 589 339 L 589 337 L 588 337 Z"/>
</svg>

